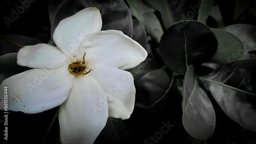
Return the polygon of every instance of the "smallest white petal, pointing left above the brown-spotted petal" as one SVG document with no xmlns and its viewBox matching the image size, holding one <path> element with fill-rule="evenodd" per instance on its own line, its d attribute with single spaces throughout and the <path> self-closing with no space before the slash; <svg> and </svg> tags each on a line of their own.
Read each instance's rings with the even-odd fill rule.
<svg viewBox="0 0 256 144">
<path fill-rule="evenodd" d="M 18 51 L 17 64 L 30 68 L 56 69 L 66 64 L 66 55 L 57 47 L 47 44 L 25 46 Z"/>
</svg>

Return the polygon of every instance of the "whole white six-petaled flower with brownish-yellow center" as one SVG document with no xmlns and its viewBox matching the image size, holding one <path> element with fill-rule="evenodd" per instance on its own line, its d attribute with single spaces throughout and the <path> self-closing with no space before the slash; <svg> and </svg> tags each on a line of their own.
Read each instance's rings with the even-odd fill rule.
<svg viewBox="0 0 256 144">
<path fill-rule="evenodd" d="M 133 112 L 132 69 L 147 53 L 121 31 L 100 31 L 101 15 L 87 8 L 61 20 L 54 31 L 57 47 L 25 46 L 17 64 L 33 68 L 1 84 L 8 87 L 8 110 L 39 113 L 59 106 L 62 143 L 93 143 L 108 117 L 127 119 Z M 4 109 L 3 95 L 0 108 Z"/>
</svg>

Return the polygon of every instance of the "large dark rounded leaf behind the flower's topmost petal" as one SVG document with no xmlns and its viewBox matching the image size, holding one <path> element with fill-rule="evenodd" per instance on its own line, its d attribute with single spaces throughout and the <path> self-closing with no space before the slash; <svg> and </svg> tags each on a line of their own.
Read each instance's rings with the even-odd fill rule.
<svg viewBox="0 0 256 144">
<path fill-rule="evenodd" d="M 59 6 L 54 15 L 52 34 L 59 22 L 82 9 L 96 7 L 99 9 L 102 18 L 101 30 L 120 30 L 127 36 L 132 37 L 133 21 L 129 9 L 122 0 L 67 0 Z"/>
</svg>

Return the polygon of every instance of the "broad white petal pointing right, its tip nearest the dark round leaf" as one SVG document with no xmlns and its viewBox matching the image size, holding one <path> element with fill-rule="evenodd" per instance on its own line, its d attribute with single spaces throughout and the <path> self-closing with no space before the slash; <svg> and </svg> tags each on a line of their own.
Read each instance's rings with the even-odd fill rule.
<svg viewBox="0 0 256 144">
<path fill-rule="evenodd" d="M 121 31 L 106 30 L 89 34 L 79 46 L 86 51 L 90 63 L 108 65 L 122 70 L 138 66 L 147 56 L 145 49 Z"/>
</svg>

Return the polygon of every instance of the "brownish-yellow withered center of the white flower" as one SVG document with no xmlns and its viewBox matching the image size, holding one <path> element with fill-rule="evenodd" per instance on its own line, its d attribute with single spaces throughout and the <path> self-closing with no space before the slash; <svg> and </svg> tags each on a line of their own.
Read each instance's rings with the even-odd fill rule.
<svg viewBox="0 0 256 144">
<path fill-rule="evenodd" d="M 86 64 L 85 56 L 86 56 L 86 52 L 84 52 L 83 54 L 82 61 L 76 61 L 69 65 L 70 73 L 73 73 L 75 75 L 87 75 L 88 73 L 93 71 L 92 69 L 90 69 L 88 72 L 86 71 L 87 64 Z"/>
</svg>

